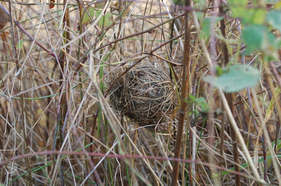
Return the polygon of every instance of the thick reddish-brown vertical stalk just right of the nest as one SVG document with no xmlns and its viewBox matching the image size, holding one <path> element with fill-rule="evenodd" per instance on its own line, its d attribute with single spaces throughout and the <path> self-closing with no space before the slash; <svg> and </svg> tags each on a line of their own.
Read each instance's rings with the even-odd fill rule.
<svg viewBox="0 0 281 186">
<path fill-rule="evenodd" d="M 189 5 L 190 5 L 190 1 L 185 0 L 185 7 Z M 184 42 L 183 61 L 182 61 L 182 68 L 183 68 L 182 69 L 182 95 L 181 95 L 180 115 L 179 115 L 179 122 L 178 122 L 178 132 L 176 134 L 176 145 L 174 151 L 175 158 L 180 158 L 184 120 L 187 110 L 187 95 L 189 92 L 190 12 L 187 10 L 185 10 L 184 24 L 185 24 L 185 35 L 184 35 L 185 42 Z M 180 162 L 176 161 L 174 162 L 173 165 L 172 186 L 177 185 L 179 163 Z"/>
</svg>

